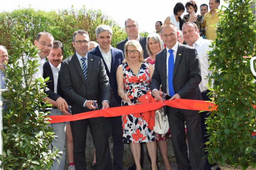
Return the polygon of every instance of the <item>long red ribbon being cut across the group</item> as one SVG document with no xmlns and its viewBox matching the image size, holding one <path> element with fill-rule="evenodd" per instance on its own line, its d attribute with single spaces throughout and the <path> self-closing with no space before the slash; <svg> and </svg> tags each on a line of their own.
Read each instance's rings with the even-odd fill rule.
<svg viewBox="0 0 256 170">
<path fill-rule="evenodd" d="M 78 121 L 88 118 L 96 117 L 116 117 L 128 114 L 138 114 L 142 112 L 149 112 L 158 110 L 161 107 L 170 106 L 174 108 L 188 109 L 188 110 L 205 110 L 211 111 L 215 110 L 217 107 L 209 102 L 203 100 L 188 100 L 188 99 L 175 99 L 175 100 L 165 100 L 155 101 L 155 99 L 148 93 L 142 97 L 138 98 L 142 104 L 132 105 L 132 106 L 121 106 L 106 108 L 103 110 L 95 110 L 89 112 L 83 112 L 74 115 L 59 115 L 59 116 L 49 116 L 51 120 L 50 123 L 60 123 L 68 121 Z"/>
</svg>

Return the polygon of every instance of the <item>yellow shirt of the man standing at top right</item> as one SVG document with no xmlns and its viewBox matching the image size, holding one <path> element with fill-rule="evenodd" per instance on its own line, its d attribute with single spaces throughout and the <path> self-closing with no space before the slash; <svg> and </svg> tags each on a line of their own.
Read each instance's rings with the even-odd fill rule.
<svg viewBox="0 0 256 170">
<path fill-rule="evenodd" d="M 211 18 L 211 11 L 207 12 L 205 16 L 203 17 L 203 21 L 205 23 L 206 31 L 205 31 L 205 38 L 208 40 L 215 41 L 217 35 L 216 35 L 216 27 L 213 25 L 218 23 L 220 18 L 218 15 L 222 14 L 222 12 L 215 12 L 213 18 Z"/>
</svg>

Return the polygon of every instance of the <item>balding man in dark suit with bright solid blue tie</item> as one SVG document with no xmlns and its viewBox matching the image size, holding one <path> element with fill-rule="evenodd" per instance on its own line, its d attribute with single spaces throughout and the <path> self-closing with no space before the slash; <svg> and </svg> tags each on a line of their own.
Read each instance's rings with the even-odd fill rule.
<svg viewBox="0 0 256 170">
<path fill-rule="evenodd" d="M 151 81 L 152 95 L 156 100 L 194 99 L 201 100 L 198 87 L 201 81 L 200 64 L 195 48 L 177 42 L 178 32 L 173 24 L 161 28 L 161 38 L 166 48 L 156 56 L 155 70 Z M 159 87 L 162 85 L 161 90 Z M 198 111 L 167 107 L 174 154 L 180 170 L 205 170 L 200 114 Z M 185 128 L 188 131 L 189 159 L 185 143 Z"/>
</svg>

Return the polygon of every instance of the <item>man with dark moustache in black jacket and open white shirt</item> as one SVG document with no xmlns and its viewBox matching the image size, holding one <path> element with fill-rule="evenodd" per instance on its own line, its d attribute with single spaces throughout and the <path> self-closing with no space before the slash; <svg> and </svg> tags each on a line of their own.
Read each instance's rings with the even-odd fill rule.
<svg viewBox="0 0 256 170">
<path fill-rule="evenodd" d="M 53 105 L 49 111 L 49 116 L 53 115 L 68 115 L 68 104 L 61 97 L 62 90 L 60 87 L 60 76 L 58 76 L 61 69 L 61 61 L 63 59 L 63 46 L 60 41 L 54 41 L 53 47 L 47 56 L 48 61 L 43 64 L 43 78 L 49 77 L 49 81 L 46 82 L 45 93 L 49 97 L 49 102 Z M 49 126 L 53 128 L 53 132 L 57 136 L 50 145 L 52 150 L 59 149 L 62 152 L 61 158 L 58 161 L 55 160 L 51 166 L 51 170 L 63 170 L 65 167 L 65 122 L 52 123 Z"/>
</svg>

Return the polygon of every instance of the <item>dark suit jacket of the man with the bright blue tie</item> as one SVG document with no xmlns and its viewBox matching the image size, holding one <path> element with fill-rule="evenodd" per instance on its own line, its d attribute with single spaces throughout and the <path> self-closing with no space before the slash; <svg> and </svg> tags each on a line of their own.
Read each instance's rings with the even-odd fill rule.
<svg viewBox="0 0 256 170">
<path fill-rule="evenodd" d="M 158 89 L 162 84 L 162 91 L 167 93 L 166 77 L 166 48 L 156 55 L 155 69 L 152 76 L 150 89 Z M 200 63 L 195 48 L 178 44 L 177 55 L 173 70 L 174 92 L 182 99 L 201 100 L 199 89 L 201 82 Z"/>
</svg>

